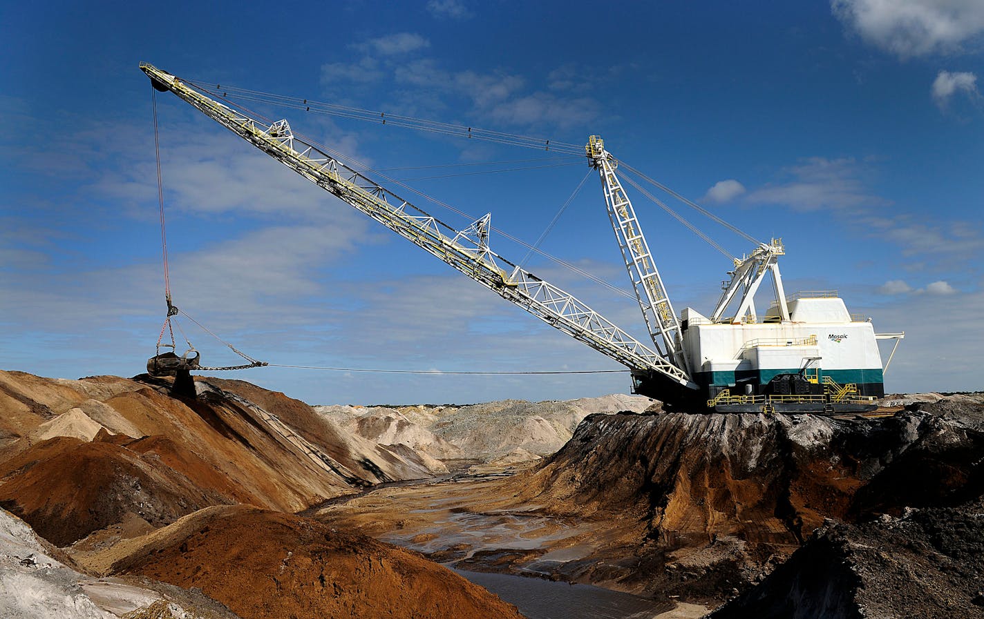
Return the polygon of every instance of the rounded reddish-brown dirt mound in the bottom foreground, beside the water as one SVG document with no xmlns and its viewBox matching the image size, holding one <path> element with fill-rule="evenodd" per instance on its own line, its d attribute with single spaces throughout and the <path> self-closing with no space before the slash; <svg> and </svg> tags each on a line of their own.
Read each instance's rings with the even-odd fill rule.
<svg viewBox="0 0 984 619">
<path fill-rule="evenodd" d="M 244 506 L 212 508 L 131 540 L 113 566 L 198 588 L 246 619 L 521 617 L 515 607 L 418 555 Z"/>
</svg>

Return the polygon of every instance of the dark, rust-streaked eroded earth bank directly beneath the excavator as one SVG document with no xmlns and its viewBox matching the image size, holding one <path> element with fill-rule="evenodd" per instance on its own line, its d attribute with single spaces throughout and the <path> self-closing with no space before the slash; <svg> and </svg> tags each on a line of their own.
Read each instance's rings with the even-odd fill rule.
<svg viewBox="0 0 984 619">
<path fill-rule="evenodd" d="M 854 421 L 592 416 L 513 489 L 518 504 L 618 518 L 635 531 L 635 548 L 623 548 L 632 561 L 602 566 L 596 554 L 567 566 L 568 577 L 725 599 L 761 578 L 825 518 L 859 522 L 980 494 L 980 399 L 953 396 L 912 409 Z"/>
</svg>

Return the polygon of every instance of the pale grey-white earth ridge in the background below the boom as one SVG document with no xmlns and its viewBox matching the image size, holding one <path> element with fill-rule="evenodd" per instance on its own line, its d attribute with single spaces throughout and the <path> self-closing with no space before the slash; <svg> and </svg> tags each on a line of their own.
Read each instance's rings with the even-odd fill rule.
<svg viewBox="0 0 984 619">
<path fill-rule="evenodd" d="M 544 456 L 560 449 L 578 423 L 594 413 L 642 413 L 643 396 L 579 400 L 504 400 L 469 406 L 318 406 L 319 414 L 383 445 L 405 444 L 440 460 L 490 462 L 523 449 Z"/>
</svg>

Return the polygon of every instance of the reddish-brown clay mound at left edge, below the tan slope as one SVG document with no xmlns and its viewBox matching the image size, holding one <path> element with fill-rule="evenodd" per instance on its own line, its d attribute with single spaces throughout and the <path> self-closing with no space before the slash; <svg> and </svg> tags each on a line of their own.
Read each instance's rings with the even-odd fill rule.
<svg viewBox="0 0 984 619">
<path fill-rule="evenodd" d="M 237 498 L 228 480 L 173 441 L 104 430 L 92 442 L 56 436 L 32 445 L 0 465 L 0 479 L 0 506 L 60 546 L 127 514 L 162 527 Z"/>
</svg>

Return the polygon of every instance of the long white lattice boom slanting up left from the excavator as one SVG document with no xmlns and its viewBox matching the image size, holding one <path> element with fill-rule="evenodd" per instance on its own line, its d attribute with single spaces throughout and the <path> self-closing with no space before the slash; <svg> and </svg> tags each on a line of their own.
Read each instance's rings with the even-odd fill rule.
<svg viewBox="0 0 984 619">
<path fill-rule="evenodd" d="M 678 387 L 698 388 L 686 370 L 673 365 L 584 302 L 494 253 L 488 244 L 490 215 L 465 230 L 456 231 L 345 166 L 338 158 L 294 136 L 285 120 L 267 125 L 152 65 L 142 63 L 140 68 L 156 89 L 174 92 L 219 125 L 503 299 L 629 367 L 637 379 L 658 376 L 660 381 Z M 658 300 L 651 301 L 658 308 Z M 661 330 L 669 335 L 667 331 L 673 328 Z"/>
</svg>

